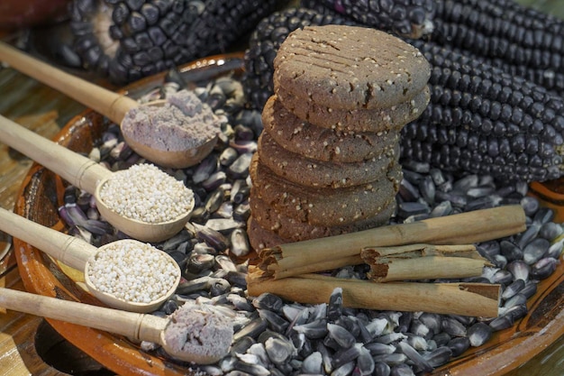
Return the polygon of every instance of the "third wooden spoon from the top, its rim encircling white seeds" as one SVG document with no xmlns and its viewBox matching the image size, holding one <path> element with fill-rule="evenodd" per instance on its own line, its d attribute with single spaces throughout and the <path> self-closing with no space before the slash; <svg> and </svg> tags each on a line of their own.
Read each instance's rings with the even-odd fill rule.
<svg viewBox="0 0 564 376">
<path fill-rule="evenodd" d="M 110 307 L 120 308 L 132 312 L 154 311 L 172 294 L 174 294 L 178 283 L 180 283 L 181 272 L 177 262 L 174 261 L 174 259 L 167 253 L 162 252 L 157 248 L 153 248 L 156 255 L 166 258 L 166 260 L 171 262 L 171 265 L 176 266 L 176 280 L 172 284 L 171 288 L 168 289 L 168 291 L 166 291 L 160 298 L 149 303 L 127 301 L 123 298 L 117 298 L 112 294 L 101 291 L 96 286 L 96 283 L 90 280 L 88 270 L 90 267 L 96 265 L 96 254 L 103 251 L 106 247 L 110 246 L 110 244 L 114 247 L 116 243 L 119 243 L 120 245 L 123 244 L 123 246 L 125 246 L 125 243 L 135 242 L 142 244 L 141 242 L 132 239 L 124 239 L 96 248 L 94 245 L 87 243 L 76 236 L 59 233 L 59 231 L 39 225 L 4 208 L 0 208 L 0 230 L 21 239 L 26 243 L 32 244 L 32 246 L 49 254 L 54 259 L 57 259 L 66 265 L 77 269 L 78 271 L 83 271 L 88 291 Z"/>
</svg>

